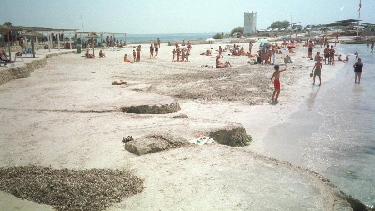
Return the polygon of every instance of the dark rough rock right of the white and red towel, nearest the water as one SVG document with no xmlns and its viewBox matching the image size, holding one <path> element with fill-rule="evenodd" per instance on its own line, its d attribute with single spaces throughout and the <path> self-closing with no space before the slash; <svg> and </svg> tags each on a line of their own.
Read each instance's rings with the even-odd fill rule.
<svg viewBox="0 0 375 211">
<path fill-rule="evenodd" d="M 241 124 L 231 124 L 225 128 L 211 131 L 210 137 L 216 142 L 228 146 L 249 146 L 252 137 L 246 134 Z"/>
</svg>

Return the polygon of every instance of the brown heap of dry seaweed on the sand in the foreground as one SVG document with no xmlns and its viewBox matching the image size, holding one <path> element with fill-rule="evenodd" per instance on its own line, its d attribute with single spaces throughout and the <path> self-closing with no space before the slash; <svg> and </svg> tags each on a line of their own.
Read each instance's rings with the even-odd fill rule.
<svg viewBox="0 0 375 211">
<path fill-rule="evenodd" d="M 57 210 L 101 210 L 143 189 L 132 173 L 111 169 L 0 168 L 0 190 Z"/>
</svg>

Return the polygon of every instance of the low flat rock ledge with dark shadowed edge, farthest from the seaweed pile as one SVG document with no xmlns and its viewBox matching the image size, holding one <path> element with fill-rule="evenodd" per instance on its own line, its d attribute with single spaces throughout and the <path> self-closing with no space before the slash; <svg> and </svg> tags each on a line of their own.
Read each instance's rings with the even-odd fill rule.
<svg viewBox="0 0 375 211">
<path fill-rule="evenodd" d="M 122 107 L 121 111 L 126 113 L 148 113 L 148 114 L 165 114 L 173 113 L 181 110 L 178 101 L 174 101 L 171 104 L 161 105 L 136 105 L 130 107 Z"/>
</svg>

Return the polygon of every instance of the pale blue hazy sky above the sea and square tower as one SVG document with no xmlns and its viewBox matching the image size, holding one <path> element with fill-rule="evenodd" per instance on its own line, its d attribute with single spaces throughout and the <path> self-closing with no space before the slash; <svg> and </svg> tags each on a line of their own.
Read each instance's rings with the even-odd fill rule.
<svg viewBox="0 0 375 211">
<path fill-rule="evenodd" d="M 132 34 L 229 32 L 257 12 L 257 29 L 274 21 L 328 24 L 357 19 L 359 0 L 0 0 L 0 24 Z M 282 2 L 282 3 L 281 3 Z M 305 3 L 306 2 L 306 3 Z M 308 3 L 307 3 L 308 2 Z M 375 22 L 375 0 L 362 0 L 360 20 Z M 22 15 L 21 15 L 22 14 Z M 83 27 L 81 22 L 83 20 Z"/>
</svg>

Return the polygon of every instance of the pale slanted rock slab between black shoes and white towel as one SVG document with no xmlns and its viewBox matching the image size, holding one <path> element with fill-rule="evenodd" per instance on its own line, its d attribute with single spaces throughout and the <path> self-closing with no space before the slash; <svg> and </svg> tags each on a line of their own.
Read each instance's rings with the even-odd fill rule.
<svg viewBox="0 0 375 211">
<path fill-rule="evenodd" d="M 171 134 L 151 134 L 125 144 L 125 149 L 136 155 L 163 151 L 169 148 L 184 146 L 187 140 Z"/>
</svg>

